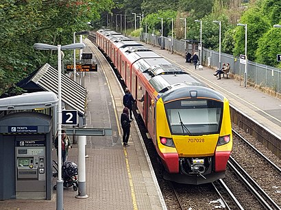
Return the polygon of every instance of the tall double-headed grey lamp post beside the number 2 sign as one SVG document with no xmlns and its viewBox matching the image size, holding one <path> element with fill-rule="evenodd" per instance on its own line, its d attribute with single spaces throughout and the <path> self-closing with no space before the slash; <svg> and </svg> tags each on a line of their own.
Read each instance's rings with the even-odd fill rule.
<svg viewBox="0 0 281 210">
<path fill-rule="evenodd" d="M 57 210 L 63 209 L 63 183 L 62 181 L 62 50 L 84 49 L 84 43 L 68 44 L 61 46 L 35 43 L 34 49 L 58 51 L 58 181 L 57 181 Z"/>
</svg>

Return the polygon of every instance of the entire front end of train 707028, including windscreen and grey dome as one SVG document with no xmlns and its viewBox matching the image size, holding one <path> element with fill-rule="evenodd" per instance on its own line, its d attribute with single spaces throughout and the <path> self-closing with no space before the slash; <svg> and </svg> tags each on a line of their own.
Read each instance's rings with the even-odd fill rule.
<svg viewBox="0 0 281 210">
<path fill-rule="evenodd" d="M 156 150 L 164 179 L 210 183 L 225 176 L 232 150 L 228 99 L 203 86 L 184 83 L 156 103 Z"/>
</svg>

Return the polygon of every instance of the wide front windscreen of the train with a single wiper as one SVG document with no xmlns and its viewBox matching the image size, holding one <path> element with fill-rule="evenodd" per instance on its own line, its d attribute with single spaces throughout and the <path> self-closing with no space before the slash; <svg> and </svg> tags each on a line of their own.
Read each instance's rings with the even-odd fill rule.
<svg viewBox="0 0 281 210">
<path fill-rule="evenodd" d="M 218 133 L 223 103 L 211 100 L 179 100 L 165 104 L 171 133 L 203 135 Z"/>
</svg>

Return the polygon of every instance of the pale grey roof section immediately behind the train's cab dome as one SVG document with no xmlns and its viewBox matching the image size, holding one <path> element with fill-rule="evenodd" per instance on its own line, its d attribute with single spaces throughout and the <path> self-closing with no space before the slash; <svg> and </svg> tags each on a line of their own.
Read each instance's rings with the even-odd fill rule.
<svg viewBox="0 0 281 210">
<path fill-rule="evenodd" d="M 185 83 L 188 86 L 205 86 L 203 83 L 200 83 L 199 81 L 191 77 L 191 75 L 189 75 L 188 73 L 180 75 L 157 75 L 156 77 L 152 77 L 151 79 L 149 79 L 149 83 L 158 93 L 166 92 L 167 90 L 173 88 L 173 85 L 178 83 Z"/>
</svg>

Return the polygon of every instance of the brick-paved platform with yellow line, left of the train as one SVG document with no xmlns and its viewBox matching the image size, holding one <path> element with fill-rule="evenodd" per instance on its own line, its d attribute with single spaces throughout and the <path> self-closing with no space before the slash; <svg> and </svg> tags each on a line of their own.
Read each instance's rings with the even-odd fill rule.
<svg viewBox="0 0 281 210">
<path fill-rule="evenodd" d="M 123 89 L 94 44 L 88 39 L 84 42 L 84 53 L 94 53 L 98 62 L 98 71 L 85 73 L 84 76 L 84 87 L 88 92 L 86 124 L 95 129 L 111 128 L 112 136 L 87 137 L 88 198 L 75 198 L 78 191 L 75 192 L 73 187 L 64 188 L 64 209 L 167 209 L 135 120 L 131 123 L 130 146 L 125 148 L 121 144 L 119 120 L 123 111 Z M 80 77 L 76 79 L 79 81 Z M 77 152 L 77 144 L 73 144 L 67 160 L 78 163 Z M 55 148 L 53 157 L 56 157 Z M 53 178 L 55 184 L 56 178 Z M 56 191 L 53 190 L 51 200 L 0 201 L 0 210 L 4 209 L 56 209 Z"/>
</svg>

